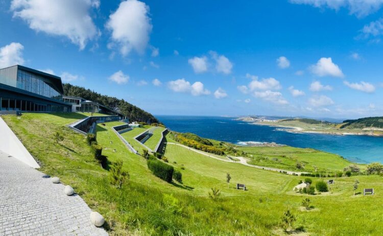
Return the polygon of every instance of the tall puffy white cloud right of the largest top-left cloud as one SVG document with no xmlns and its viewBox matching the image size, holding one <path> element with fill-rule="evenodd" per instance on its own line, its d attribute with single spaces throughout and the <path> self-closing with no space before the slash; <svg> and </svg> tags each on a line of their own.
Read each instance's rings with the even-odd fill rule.
<svg viewBox="0 0 383 236">
<path fill-rule="evenodd" d="M 123 56 L 132 49 L 142 55 L 149 42 L 152 23 L 149 6 L 137 0 L 127 0 L 109 16 L 106 28 L 112 31 L 111 40 L 118 44 Z"/>
</svg>

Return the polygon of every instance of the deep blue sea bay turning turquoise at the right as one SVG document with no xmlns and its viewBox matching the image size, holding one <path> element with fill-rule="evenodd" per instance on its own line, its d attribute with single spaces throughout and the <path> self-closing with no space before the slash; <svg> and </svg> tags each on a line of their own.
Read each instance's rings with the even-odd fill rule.
<svg viewBox="0 0 383 236">
<path fill-rule="evenodd" d="M 238 142 L 275 142 L 293 147 L 332 152 L 357 163 L 383 163 L 383 137 L 294 134 L 276 127 L 254 125 L 228 117 L 156 116 L 168 128 L 204 138 Z"/>
</svg>

